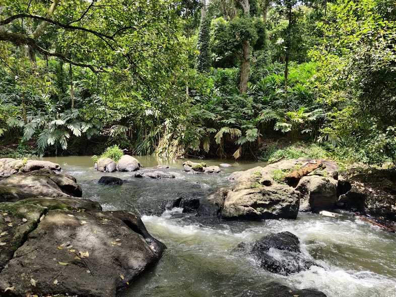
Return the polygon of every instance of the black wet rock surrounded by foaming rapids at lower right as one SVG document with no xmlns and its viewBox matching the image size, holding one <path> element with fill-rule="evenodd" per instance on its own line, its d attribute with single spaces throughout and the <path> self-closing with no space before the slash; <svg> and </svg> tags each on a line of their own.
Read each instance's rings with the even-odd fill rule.
<svg viewBox="0 0 396 297">
<path fill-rule="evenodd" d="M 250 253 L 261 268 L 282 275 L 307 270 L 313 265 L 303 258 L 300 241 L 290 232 L 262 237 L 254 244 Z"/>
</svg>

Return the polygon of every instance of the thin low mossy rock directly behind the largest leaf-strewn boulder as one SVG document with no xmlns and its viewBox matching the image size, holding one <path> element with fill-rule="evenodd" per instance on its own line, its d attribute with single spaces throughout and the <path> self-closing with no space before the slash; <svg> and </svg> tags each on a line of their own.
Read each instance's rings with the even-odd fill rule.
<svg viewBox="0 0 396 297">
<path fill-rule="evenodd" d="M 77 197 L 34 197 L 18 201 L 18 203 L 34 204 L 47 208 L 47 210 L 63 209 L 71 211 L 102 210 L 99 202 Z"/>
</svg>

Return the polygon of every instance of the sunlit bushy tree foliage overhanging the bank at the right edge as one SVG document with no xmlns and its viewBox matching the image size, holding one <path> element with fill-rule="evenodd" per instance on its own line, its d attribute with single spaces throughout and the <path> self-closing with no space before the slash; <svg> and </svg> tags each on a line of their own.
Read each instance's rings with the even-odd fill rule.
<svg viewBox="0 0 396 297">
<path fill-rule="evenodd" d="M 394 16 L 394 8 L 382 0 L 332 5 L 320 24 L 326 43 L 312 52 L 320 67 L 320 97 L 329 107 L 319 140 L 343 145 L 346 156 L 368 163 L 395 159 Z"/>
</svg>

